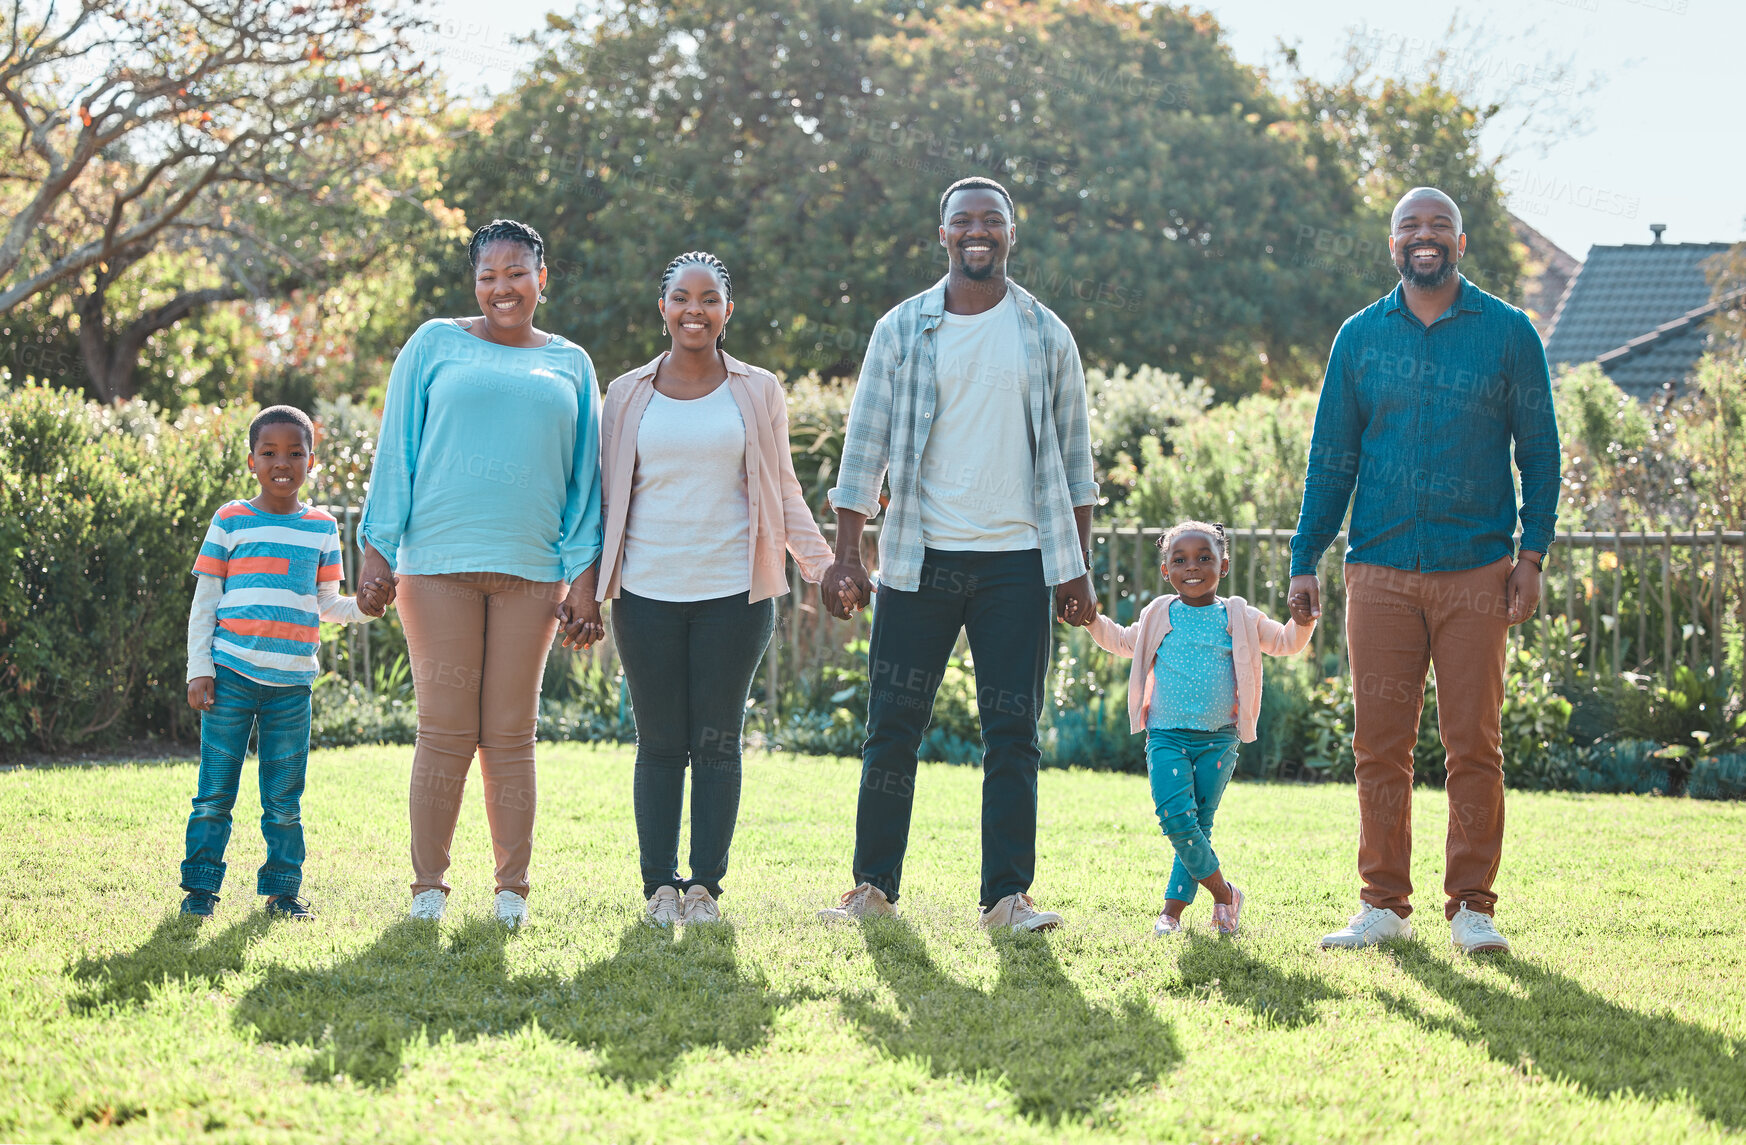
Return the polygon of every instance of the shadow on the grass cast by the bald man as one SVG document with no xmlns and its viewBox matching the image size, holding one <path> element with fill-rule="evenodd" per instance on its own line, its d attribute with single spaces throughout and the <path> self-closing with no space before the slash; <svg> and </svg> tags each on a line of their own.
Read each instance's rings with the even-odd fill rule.
<svg viewBox="0 0 1746 1145">
<path fill-rule="evenodd" d="M 1489 962 L 1517 988 L 1507 990 L 1413 946 L 1392 956 L 1460 1011 L 1460 1018 L 1432 1016 L 1407 998 L 1379 995 L 1390 1011 L 1426 1030 L 1484 1046 L 1510 1068 L 1531 1063 L 1536 1073 L 1596 1096 L 1690 1101 L 1729 1129 L 1746 1126 L 1746 1042 L 1669 1014 L 1627 1009 L 1524 958 Z"/>
</svg>

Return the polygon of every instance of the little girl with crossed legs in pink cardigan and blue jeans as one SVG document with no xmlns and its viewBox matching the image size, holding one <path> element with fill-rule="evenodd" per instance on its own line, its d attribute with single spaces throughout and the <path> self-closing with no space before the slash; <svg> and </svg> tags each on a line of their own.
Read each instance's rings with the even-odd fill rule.
<svg viewBox="0 0 1746 1145">
<path fill-rule="evenodd" d="M 1224 525 L 1186 520 L 1158 539 L 1159 571 L 1175 590 L 1158 597 L 1131 625 L 1091 621 L 1091 639 L 1133 656 L 1128 717 L 1145 731 L 1145 770 L 1158 824 L 1177 850 L 1154 937 L 1182 930 L 1182 908 L 1200 883 L 1213 897 L 1212 927 L 1236 934 L 1243 892 L 1226 881 L 1213 854 L 1212 819 L 1236 768 L 1238 742 L 1255 738 L 1261 714 L 1261 653 L 1303 651 L 1315 632 L 1310 602 L 1294 599 L 1280 625 L 1243 597 L 1219 597 L 1231 571 Z"/>
</svg>

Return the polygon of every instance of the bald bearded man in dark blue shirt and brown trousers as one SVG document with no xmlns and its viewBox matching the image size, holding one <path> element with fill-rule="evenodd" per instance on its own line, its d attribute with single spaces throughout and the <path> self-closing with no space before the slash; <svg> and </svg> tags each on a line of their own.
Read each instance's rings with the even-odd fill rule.
<svg viewBox="0 0 1746 1145">
<path fill-rule="evenodd" d="M 1510 625 L 1540 602 L 1556 527 L 1552 387 L 1528 316 L 1458 271 L 1467 234 L 1449 195 L 1402 195 L 1388 253 L 1400 285 L 1334 339 L 1292 538 L 1292 604 L 1320 614 L 1316 564 L 1351 506 L 1346 653 L 1362 890 L 1358 913 L 1322 946 L 1413 937 L 1413 745 L 1433 667 L 1449 759 L 1444 918 L 1458 948 L 1503 951 L 1493 918 L 1503 656 Z"/>
</svg>

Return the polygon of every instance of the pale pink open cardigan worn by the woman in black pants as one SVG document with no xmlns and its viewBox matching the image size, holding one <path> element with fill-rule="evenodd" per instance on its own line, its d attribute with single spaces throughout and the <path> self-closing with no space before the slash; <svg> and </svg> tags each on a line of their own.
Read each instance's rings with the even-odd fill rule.
<svg viewBox="0 0 1746 1145">
<path fill-rule="evenodd" d="M 637 470 L 637 426 L 655 396 L 655 370 L 663 353 L 644 367 L 622 374 L 606 387 L 601 412 L 601 504 L 606 513 L 606 538 L 601 548 L 601 600 L 618 597 L 620 560 L 625 555 L 625 522 L 630 517 L 630 485 Z M 728 353 L 723 382 L 746 421 L 746 501 L 751 508 L 751 593 L 756 604 L 787 592 L 787 566 L 782 552 L 794 553 L 800 574 L 819 583 L 831 567 L 831 545 L 819 532 L 794 477 L 794 459 L 787 452 L 787 396 L 775 374 L 749 367 Z M 698 522 L 707 529 L 709 522 Z M 707 578 L 709 569 L 700 569 Z"/>
</svg>

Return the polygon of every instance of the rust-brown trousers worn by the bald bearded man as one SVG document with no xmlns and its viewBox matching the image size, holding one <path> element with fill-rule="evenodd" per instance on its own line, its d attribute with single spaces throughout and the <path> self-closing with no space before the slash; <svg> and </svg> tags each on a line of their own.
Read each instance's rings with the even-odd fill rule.
<svg viewBox="0 0 1746 1145">
<path fill-rule="evenodd" d="M 1493 913 L 1503 854 L 1505 557 L 1463 572 L 1346 566 L 1346 651 L 1357 728 L 1360 897 L 1413 913 L 1413 744 L 1425 668 L 1437 668 L 1437 731 L 1449 756 L 1444 915 Z"/>
</svg>

